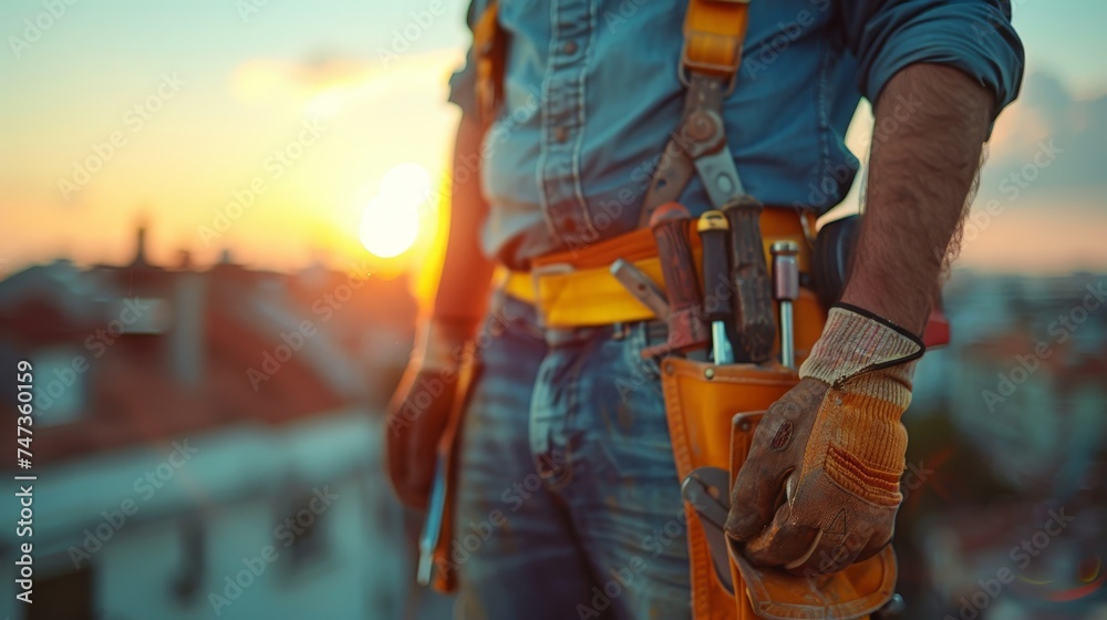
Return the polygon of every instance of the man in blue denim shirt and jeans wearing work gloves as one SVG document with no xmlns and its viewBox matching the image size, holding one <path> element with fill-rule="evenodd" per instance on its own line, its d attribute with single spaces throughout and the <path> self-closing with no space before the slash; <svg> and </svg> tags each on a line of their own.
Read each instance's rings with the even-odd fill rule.
<svg viewBox="0 0 1107 620">
<path fill-rule="evenodd" d="M 476 2 L 470 18 L 482 14 Z M 397 393 L 391 475 L 425 505 L 459 344 L 485 314 L 495 264 L 527 270 L 558 250 L 639 226 L 681 120 L 686 2 L 505 0 L 504 103 L 463 110 L 448 250 L 432 317 Z M 746 556 L 832 572 L 891 538 L 901 499 L 919 334 L 968 208 L 982 145 L 1016 95 L 1023 52 L 1003 0 L 754 0 L 723 104 L 748 193 L 824 213 L 853 180 L 842 136 L 873 102 L 866 215 L 855 266 L 799 385 L 766 415 L 734 489 L 728 535 Z M 479 163 L 478 166 L 474 163 Z M 479 168 L 478 170 L 475 168 Z M 478 174 L 479 173 L 479 174 Z M 467 180 L 467 182 L 463 182 Z M 479 182 L 478 182 L 479 180 Z M 680 202 L 708 205 L 694 178 Z M 456 528 L 461 618 L 687 618 L 685 524 L 658 365 L 656 322 L 551 330 L 503 291 L 478 338 L 483 374 L 464 422 Z M 439 382 L 441 383 L 441 382 Z M 411 417 L 411 416 L 408 416 Z"/>
</svg>

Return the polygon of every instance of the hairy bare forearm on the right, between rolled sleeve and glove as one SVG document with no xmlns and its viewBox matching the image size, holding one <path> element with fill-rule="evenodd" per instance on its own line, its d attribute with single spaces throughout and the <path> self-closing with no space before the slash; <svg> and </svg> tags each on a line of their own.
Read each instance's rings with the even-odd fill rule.
<svg viewBox="0 0 1107 620">
<path fill-rule="evenodd" d="M 884 86 L 842 301 L 922 332 L 968 209 L 993 99 L 960 71 L 934 64 L 909 66 Z"/>
</svg>

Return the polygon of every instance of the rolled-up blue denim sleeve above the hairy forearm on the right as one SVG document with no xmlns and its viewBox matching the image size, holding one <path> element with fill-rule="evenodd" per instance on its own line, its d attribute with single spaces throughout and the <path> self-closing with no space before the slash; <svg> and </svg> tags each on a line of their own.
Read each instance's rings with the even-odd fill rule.
<svg viewBox="0 0 1107 620">
<path fill-rule="evenodd" d="M 841 7 L 858 86 L 869 101 L 915 63 L 956 68 L 992 90 L 993 120 L 1017 96 L 1025 56 L 1010 0 L 845 0 Z"/>
</svg>

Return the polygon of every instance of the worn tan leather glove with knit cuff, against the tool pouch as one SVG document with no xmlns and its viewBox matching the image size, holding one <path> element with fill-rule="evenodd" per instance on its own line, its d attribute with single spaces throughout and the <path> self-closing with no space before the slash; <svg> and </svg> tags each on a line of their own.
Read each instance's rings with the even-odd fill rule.
<svg viewBox="0 0 1107 620">
<path fill-rule="evenodd" d="M 799 383 L 765 413 L 726 534 L 755 565 L 838 572 L 892 538 L 922 341 L 860 308 L 830 309 Z M 744 545 L 742 545 L 744 544 Z"/>
</svg>

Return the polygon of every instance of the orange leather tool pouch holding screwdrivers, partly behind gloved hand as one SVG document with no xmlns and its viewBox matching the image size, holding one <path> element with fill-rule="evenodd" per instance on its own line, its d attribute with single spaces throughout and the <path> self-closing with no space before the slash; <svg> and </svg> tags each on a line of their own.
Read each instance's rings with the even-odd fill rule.
<svg viewBox="0 0 1107 620">
<path fill-rule="evenodd" d="M 761 412 L 799 382 L 796 371 L 782 366 L 716 366 L 668 358 L 662 360 L 661 370 L 680 478 L 699 467 L 721 467 L 730 472 L 730 486 L 748 455 Z M 728 494 L 730 486 L 723 493 Z M 896 560 L 891 547 L 818 580 L 754 568 L 732 552 L 732 593 L 715 571 L 695 509 L 685 503 L 685 512 L 696 620 L 859 619 L 879 609 L 893 593 Z"/>
</svg>

